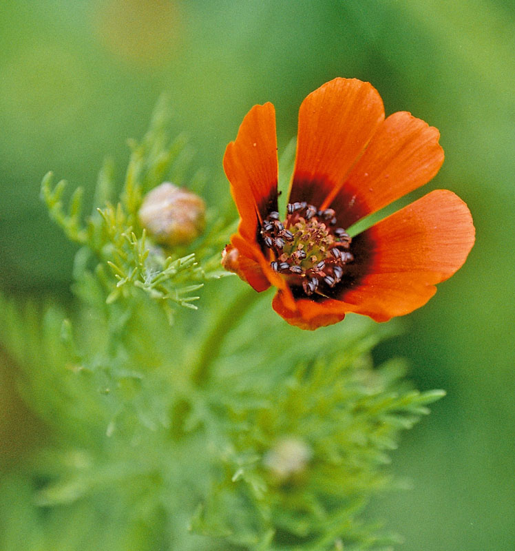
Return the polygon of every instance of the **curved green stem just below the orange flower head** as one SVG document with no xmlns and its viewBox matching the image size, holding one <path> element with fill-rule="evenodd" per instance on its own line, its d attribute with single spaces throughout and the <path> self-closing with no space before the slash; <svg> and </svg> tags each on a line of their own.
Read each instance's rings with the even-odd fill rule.
<svg viewBox="0 0 515 551">
<path fill-rule="evenodd" d="M 227 309 L 224 309 L 213 324 L 213 329 L 207 334 L 198 353 L 198 360 L 193 366 L 192 380 L 194 384 L 203 386 L 209 379 L 209 368 L 218 357 L 224 338 L 243 317 L 253 302 L 259 297 L 253 289 L 245 289 Z"/>
</svg>

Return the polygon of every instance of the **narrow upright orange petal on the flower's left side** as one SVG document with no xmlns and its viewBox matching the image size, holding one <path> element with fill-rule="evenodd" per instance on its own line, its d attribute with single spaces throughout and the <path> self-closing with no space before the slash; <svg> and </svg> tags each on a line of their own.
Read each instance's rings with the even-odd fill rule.
<svg viewBox="0 0 515 551">
<path fill-rule="evenodd" d="M 255 241 L 257 220 L 277 210 L 277 138 L 271 103 L 254 105 L 235 141 L 227 145 L 224 170 L 240 213 L 241 236 Z"/>
</svg>

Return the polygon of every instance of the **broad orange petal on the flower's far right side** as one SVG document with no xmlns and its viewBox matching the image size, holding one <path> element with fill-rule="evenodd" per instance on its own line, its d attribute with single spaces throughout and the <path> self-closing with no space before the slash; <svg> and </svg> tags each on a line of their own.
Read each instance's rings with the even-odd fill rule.
<svg viewBox="0 0 515 551">
<path fill-rule="evenodd" d="M 342 309 L 378 322 L 423 306 L 434 284 L 465 262 L 475 229 L 467 205 L 445 189 L 432 191 L 364 232 L 372 243 L 367 273 L 343 290 Z"/>
</svg>

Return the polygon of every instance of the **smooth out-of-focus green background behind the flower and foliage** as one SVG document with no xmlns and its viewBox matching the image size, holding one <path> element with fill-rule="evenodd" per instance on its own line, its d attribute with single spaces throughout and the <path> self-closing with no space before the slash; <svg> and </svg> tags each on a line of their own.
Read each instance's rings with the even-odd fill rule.
<svg viewBox="0 0 515 551">
<path fill-rule="evenodd" d="M 448 397 L 394 455 L 413 489 L 375 512 L 406 551 L 513 549 L 514 37 L 509 0 L 3 1 L 0 287 L 66 300 L 75 248 L 39 200 L 41 177 L 52 169 L 91 191 L 109 155 L 121 178 L 127 137 L 145 132 L 161 92 L 216 204 L 229 194 L 224 147 L 251 105 L 275 104 L 284 147 L 308 92 L 335 76 L 370 81 L 387 114 L 441 131 L 443 169 L 411 198 L 452 189 L 477 229 L 465 267 L 376 351 L 408 357 L 418 388 Z M 3 366 L 6 472 L 41 438 L 13 377 Z"/>
</svg>

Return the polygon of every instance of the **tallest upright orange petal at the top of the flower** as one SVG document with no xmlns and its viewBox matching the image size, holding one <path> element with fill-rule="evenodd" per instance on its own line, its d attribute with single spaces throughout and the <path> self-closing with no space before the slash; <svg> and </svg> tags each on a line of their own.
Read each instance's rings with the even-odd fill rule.
<svg viewBox="0 0 515 551">
<path fill-rule="evenodd" d="M 302 102 L 290 202 L 320 207 L 363 154 L 384 119 L 383 101 L 370 83 L 334 79 Z"/>
</svg>

